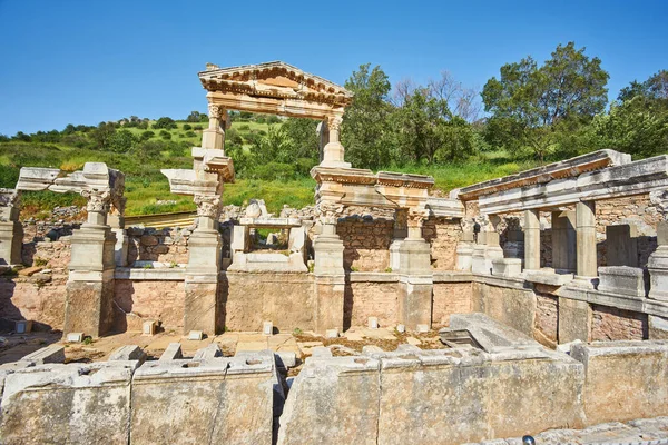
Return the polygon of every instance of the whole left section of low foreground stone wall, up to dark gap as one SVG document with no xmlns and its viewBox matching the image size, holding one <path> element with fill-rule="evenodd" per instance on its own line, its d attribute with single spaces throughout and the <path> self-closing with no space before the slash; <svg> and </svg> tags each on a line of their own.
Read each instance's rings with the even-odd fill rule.
<svg viewBox="0 0 668 445">
<path fill-rule="evenodd" d="M 144 364 L 129 346 L 109 362 L 3 365 L 0 442 L 273 443 L 285 396 L 271 352 L 222 357 L 208 347 L 183 359 L 171 346 Z"/>
</svg>

